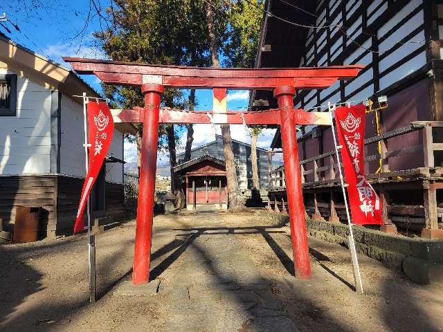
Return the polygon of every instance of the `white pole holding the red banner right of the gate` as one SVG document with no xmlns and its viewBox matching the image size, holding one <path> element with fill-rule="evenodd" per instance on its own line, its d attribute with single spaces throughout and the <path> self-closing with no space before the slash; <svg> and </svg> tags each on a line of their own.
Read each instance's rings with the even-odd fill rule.
<svg viewBox="0 0 443 332">
<path fill-rule="evenodd" d="M 341 183 L 341 190 L 343 192 L 343 200 L 345 201 L 347 226 L 349 227 L 349 236 L 347 237 L 347 242 L 349 243 L 349 250 L 351 252 L 351 258 L 352 258 L 352 267 L 354 268 L 355 290 L 358 291 L 359 293 L 363 294 L 363 284 L 361 282 L 359 260 L 357 259 L 357 254 L 356 254 L 356 249 L 355 249 L 354 232 L 352 232 L 352 223 L 351 223 L 351 218 L 350 218 L 350 214 L 349 214 L 349 207 L 347 205 L 347 198 L 346 198 L 346 192 L 345 192 L 345 182 L 343 181 L 343 174 L 341 172 L 341 162 L 340 162 L 340 158 L 338 157 L 338 146 L 337 146 L 337 140 L 335 137 L 334 118 L 333 118 L 334 111 L 335 111 L 335 104 L 331 104 L 330 102 L 328 102 L 327 108 L 329 110 L 329 113 L 331 114 L 332 137 L 334 138 L 335 154 L 337 157 L 338 174 L 340 174 L 340 183 Z"/>
</svg>

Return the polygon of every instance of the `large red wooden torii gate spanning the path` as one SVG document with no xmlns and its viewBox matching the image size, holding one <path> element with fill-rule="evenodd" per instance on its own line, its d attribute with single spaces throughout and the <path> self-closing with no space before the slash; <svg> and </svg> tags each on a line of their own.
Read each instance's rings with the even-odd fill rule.
<svg viewBox="0 0 443 332">
<path fill-rule="evenodd" d="M 144 108 L 136 107 L 134 110 L 121 110 L 114 114 L 115 122 L 143 123 L 133 284 L 144 284 L 149 281 L 159 123 L 280 125 L 294 268 L 296 275 L 301 279 L 311 277 L 295 126 L 296 124 L 330 125 L 331 118 L 327 113 L 293 109 L 293 96 L 296 88 L 324 89 L 337 80 L 355 77 L 364 66 L 197 68 L 153 66 L 76 57 L 63 59 L 71 63 L 73 70 L 79 74 L 94 74 L 106 84 L 141 86 L 141 91 L 145 95 Z M 160 109 L 161 94 L 165 87 L 213 89 L 214 110 L 182 112 Z M 226 113 L 226 89 L 272 89 L 279 108 L 260 112 Z"/>
</svg>

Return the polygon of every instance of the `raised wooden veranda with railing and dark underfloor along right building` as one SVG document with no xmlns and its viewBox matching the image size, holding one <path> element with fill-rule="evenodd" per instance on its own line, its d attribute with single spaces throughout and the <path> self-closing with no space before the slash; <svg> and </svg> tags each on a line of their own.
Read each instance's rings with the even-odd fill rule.
<svg viewBox="0 0 443 332">
<path fill-rule="evenodd" d="M 380 153 L 366 156 L 365 163 L 380 160 L 379 172 L 368 174 L 367 178 L 383 203 L 383 230 L 395 232 L 397 226 L 422 232 L 423 237 L 443 232 L 442 130 L 442 121 L 415 121 L 365 139 L 365 146 L 380 142 Z M 390 138 L 413 132 L 419 133 L 421 145 L 388 149 Z M 422 167 L 390 171 L 390 158 L 410 154 L 421 158 Z M 305 207 L 311 218 L 345 221 L 335 150 L 300 161 L 300 169 Z M 283 210 L 282 204 L 287 201 L 283 166 L 269 172 L 269 201 L 274 205 L 273 210 Z"/>
</svg>

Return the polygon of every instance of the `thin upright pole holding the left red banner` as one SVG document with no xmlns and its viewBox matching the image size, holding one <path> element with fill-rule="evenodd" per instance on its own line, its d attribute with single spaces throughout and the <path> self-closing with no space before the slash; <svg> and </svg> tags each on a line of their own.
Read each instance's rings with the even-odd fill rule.
<svg viewBox="0 0 443 332">
<path fill-rule="evenodd" d="M 86 165 L 86 174 L 89 170 L 89 143 L 87 126 L 87 107 L 89 102 L 86 93 L 83 93 L 83 116 L 84 116 L 84 160 Z M 90 195 L 87 200 L 87 218 L 88 218 L 88 266 L 89 266 L 89 302 L 96 302 L 96 239 L 91 233 L 91 207 Z"/>
</svg>

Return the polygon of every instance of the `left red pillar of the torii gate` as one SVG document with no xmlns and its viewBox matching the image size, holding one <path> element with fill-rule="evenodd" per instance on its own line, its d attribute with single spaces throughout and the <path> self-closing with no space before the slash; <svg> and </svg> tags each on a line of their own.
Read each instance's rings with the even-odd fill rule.
<svg viewBox="0 0 443 332">
<path fill-rule="evenodd" d="M 150 279 L 155 172 L 159 140 L 159 109 L 163 86 L 160 84 L 143 84 L 141 91 L 145 95 L 145 114 L 132 273 L 132 283 L 134 285 L 145 284 Z"/>
</svg>

